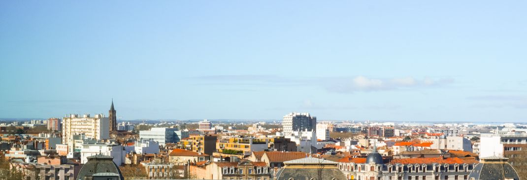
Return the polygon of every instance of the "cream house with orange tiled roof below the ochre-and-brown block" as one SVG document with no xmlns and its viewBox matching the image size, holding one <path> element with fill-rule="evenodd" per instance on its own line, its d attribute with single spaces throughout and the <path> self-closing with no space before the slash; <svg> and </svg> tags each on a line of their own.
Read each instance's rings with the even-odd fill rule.
<svg viewBox="0 0 527 180">
<path fill-rule="evenodd" d="M 194 151 L 185 149 L 172 149 L 169 153 L 169 162 L 175 165 L 184 165 L 188 163 L 201 162 L 203 160 L 210 160 L 210 155 L 203 153 L 196 153 Z"/>
</svg>

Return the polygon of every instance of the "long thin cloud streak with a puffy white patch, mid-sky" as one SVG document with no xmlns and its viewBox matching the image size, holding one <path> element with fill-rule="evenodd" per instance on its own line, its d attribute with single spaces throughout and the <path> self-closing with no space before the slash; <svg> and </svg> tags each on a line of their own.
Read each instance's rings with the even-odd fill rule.
<svg viewBox="0 0 527 180">
<path fill-rule="evenodd" d="M 442 87 L 453 83 L 452 78 L 368 78 L 357 77 L 310 77 L 284 78 L 276 75 L 208 75 L 192 78 L 196 85 L 225 86 L 317 86 L 330 92 L 353 93 L 356 91 L 387 91 L 426 87 Z"/>
</svg>

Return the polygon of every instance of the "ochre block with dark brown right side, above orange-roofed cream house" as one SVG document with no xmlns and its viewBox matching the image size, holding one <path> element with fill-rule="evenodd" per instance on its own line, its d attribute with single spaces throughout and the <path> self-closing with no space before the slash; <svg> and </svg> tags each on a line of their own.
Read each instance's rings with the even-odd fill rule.
<svg viewBox="0 0 527 180">
<path fill-rule="evenodd" d="M 191 135 L 188 138 L 181 139 L 178 143 L 178 147 L 196 153 L 212 155 L 212 153 L 216 151 L 216 140 L 216 136 Z"/>
</svg>

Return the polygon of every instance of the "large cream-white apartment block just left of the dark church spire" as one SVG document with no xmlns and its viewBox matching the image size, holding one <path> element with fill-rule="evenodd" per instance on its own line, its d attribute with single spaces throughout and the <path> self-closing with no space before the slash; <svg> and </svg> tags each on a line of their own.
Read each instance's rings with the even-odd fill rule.
<svg viewBox="0 0 527 180">
<path fill-rule="evenodd" d="M 82 117 L 77 114 L 66 115 L 62 118 L 62 142 L 68 142 L 73 135 L 84 134 L 86 138 L 109 139 L 110 121 L 103 114 L 94 117 L 85 114 Z"/>
</svg>

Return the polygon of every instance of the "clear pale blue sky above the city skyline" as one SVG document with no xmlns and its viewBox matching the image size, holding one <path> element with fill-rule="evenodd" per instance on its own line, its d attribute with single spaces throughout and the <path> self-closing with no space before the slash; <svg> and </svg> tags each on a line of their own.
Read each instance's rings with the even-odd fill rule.
<svg viewBox="0 0 527 180">
<path fill-rule="evenodd" d="M 527 121 L 526 1 L 1 1 L 0 118 Z"/>
</svg>

